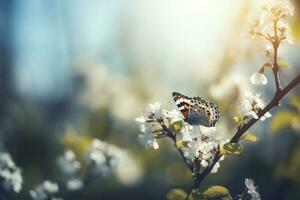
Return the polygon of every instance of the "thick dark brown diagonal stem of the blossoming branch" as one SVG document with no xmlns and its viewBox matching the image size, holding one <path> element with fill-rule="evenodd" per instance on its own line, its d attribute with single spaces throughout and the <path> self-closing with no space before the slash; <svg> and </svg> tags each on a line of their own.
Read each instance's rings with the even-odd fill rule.
<svg viewBox="0 0 300 200">
<path fill-rule="evenodd" d="M 284 89 L 279 90 L 274 95 L 273 99 L 270 101 L 270 103 L 258 113 L 258 119 L 252 118 L 250 121 L 248 121 L 244 126 L 241 128 L 238 128 L 234 136 L 231 138 L 231 143 L 238 143 L 241 136 L 251 127 L 253 126 L 266 112 L 271 110 L 273 107 L 279 105 L 279 101 L 287 94 L 289 93 L 294 87 L 296 87 L 300 83 L 300 74 L 294 78 Z M 207 166 L 198 176 L 196 176 L 196 180 L 194 183 L 194 188 L 199 188 L 200 184 L 204 180 L 204 178 L 210 173 L 210 171 L 213 169 L 215 164 L 219 161 L 219 159 L 222 157 L 220 153 L 216 154 L 212 163 Z"/>
</svg>

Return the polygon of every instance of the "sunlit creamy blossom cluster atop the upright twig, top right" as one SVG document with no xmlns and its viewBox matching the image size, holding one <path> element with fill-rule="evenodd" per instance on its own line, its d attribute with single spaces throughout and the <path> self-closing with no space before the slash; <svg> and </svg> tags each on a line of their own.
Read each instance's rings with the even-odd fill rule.
<svg viewBox="0 0 300 200">
<path fill-rule="evenodd" d="M 291 28 L 287 17 L 294 15 L 294 6 L 288 0 L 272 0 L 261 5 L 260 12 L 256 15 L 251 26 L 253 36 L 274 35 L 274 22 L 277 23 L 276 34 L 281 41 L 293 43 Z"/>
</svg>

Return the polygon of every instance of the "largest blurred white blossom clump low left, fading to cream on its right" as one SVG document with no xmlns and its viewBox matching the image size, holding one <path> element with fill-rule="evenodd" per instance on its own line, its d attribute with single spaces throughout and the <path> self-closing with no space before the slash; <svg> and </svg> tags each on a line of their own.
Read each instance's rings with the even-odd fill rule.
<svg viewBox="0 0 300 200">
<path fill-rule="evenodd" d="M 142 171 L 129 152 L 99 139 L 92 141 L 88 152 L 89 170 L 94 175 L 114 174 L 125 185 L 137 183 Z"/>
</svg>

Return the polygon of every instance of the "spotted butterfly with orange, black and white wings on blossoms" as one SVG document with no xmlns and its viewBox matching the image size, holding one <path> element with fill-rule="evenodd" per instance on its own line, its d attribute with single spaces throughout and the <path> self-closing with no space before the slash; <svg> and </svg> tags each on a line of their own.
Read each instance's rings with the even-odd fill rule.
<svg viewBox="0 0 300 200">
<path fill-rule="evenodd" d="M 188 97 L 173 92 L 173 99 L 184 116 L 184 121 L 190 125 L 213 127 L 220 119 L 220 111 L 216 104 L 201 97 Z"/>
</svg>

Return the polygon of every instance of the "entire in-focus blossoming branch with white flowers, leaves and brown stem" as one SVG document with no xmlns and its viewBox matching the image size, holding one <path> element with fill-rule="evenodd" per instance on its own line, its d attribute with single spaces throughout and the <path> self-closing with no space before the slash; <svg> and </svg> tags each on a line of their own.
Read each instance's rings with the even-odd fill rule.
<svg viewBox="0 0 300 200">
<path fill-rule="evenodd" d="M 157 140 L 170 138 L 183 158 L 186 165 L 192 171 L 195 182 L 194 189 L 190 196 L 207 197 L 209 194 L 218 197 L 232 199 L 228 190 L 224 187 L 214 186 L 206 190 L 200 190 L 202 181 L 209 173 L 216 173 L 220 167 L 220 161 L 225 155 L 239 154 L 243 150 L 243 145 L 239 142 L 244 139 L 256 141 L 256 136 L 245 134 L 259 119 L 265 120 L 272 115 L 270 110 L 280 105 L 280 100 L 300 83 L 300 75 L 297 75 L 285 87 L 281 85 L 280 71 L 286 68 L 286 63 L 278 59 L 278 50 L 283 42 L 291 44 L 291 29 L 288 24 L 288 17 L 293 16 L 294 7 L 287 0 L 271 1 L 263 4 L 258 15 L 252 22 L 250 33 L 253 38 L 261 38 L 266 46 L 265 56 L 268 61 L 261 65 L 257 73 L 250 76 L 252 84 L 266 85 L 268 80 L 265 73 L 270 70 L 274 76 L 275 94 L 269 103 L 265 103 L 261 94 L 247 92 L 242 99 L 240 113 L 234 117 L 237 125 L 236 133 L 231 139 L 226 138 L 219 126 L 208 126 L 205 121 L 209 121 L 211 112 L 203 112 L 202 109 L 212 111 L 200 106 L 197 110 L 190 105 L 190 101 L 200 99 L 200 97 L 183 99 L 179 105 L 179 110 L 167 111 L 162 109 L 159 103 L 150 104 L 146 107 L 144 114 L 136 118 L 142 134 L 138 140 L 147 148 L 159 148 Z M 180 111 L 180 112 L 179 112 Z M 193 119 L 192 119 L 193 117 Z M 202 121 L 195 125 L 195 121 Z M 200 126 L 198 126 L 200 125 Z M 209 125 L 210 126 L 210 125 Z M 245 181 L 251 199 L 260 199 L 254 183 L 250 179 Z M 171 194 L 178 194 L 176 191 Z M 182 194 L 182 191 L 179 193 Z M 183 195 L 185 196 L 185 195 Z M 216 196 L 214 196 L 216 197 Z M 186 199 L 182 198 L 182 199 Z M 242 198 L 240 198 L 242 199 Z"/>
</svg>

